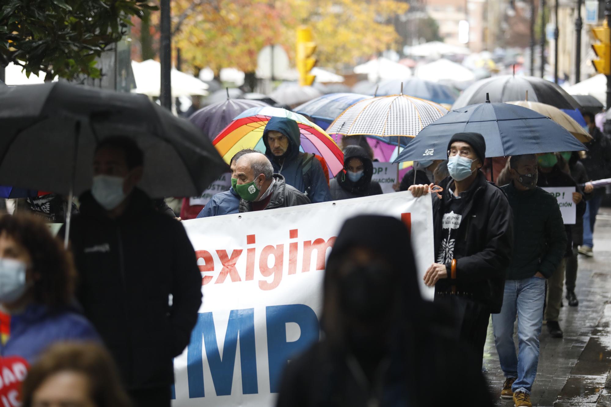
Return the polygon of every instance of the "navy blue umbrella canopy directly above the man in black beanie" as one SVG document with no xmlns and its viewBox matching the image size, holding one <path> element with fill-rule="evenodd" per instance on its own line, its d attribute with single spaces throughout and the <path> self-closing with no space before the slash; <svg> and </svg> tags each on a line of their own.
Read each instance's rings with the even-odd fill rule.
<svg viewBox="0 0 611 407">
<path fill-rule="evenodd" d="M 573 134 L 531 109 L 488 102 L 454 109 L 431 123 L 395 162 L 447 160 L 448 142 L 463 131 L 484 136 L 486 157 L 587 150 Z"/>
</svg>

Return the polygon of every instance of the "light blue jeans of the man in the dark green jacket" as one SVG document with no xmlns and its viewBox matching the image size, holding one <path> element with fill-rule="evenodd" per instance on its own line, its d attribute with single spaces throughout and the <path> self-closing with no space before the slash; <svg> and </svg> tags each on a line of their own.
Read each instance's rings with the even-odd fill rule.
<svg viewBox="0 0 611 407">
<path fill-rule="evenodd" d="M 539 335 L 545 303 L 545 279 L 530 277 L 505 281 L 500 314 L 492 315 L 494 342 L 500 367 L 507 378 L 516 378 L 511 390 L 530 394 L 539 364 Z M 513 324 L 518 315 L 518 355 Z"/>
</svg>

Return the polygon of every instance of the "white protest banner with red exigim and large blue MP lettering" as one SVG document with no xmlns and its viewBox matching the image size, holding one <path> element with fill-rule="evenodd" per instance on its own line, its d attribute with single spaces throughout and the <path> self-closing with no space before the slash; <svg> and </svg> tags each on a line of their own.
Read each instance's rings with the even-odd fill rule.
<svg viewBox="0 0 611 407">
<path fill-rule="evenodd" d="M 408 225 L 421 290 L 432 299 L 422 282 L 434 260 L 430 195 L 384 194 L 183 222 L 202 272 L 203 304 L 191 343 L 174 360 L 174 407 L 274 404 L 287 362 L 320 338 L 329 249 L 343 222 L 365 213 Z"/>
</svg>

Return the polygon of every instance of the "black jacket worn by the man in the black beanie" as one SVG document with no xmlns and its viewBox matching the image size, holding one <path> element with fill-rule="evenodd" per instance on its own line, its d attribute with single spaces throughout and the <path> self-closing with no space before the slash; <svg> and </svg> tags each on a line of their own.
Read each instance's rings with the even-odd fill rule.
<svg viewBox="0 0 611 407">
<path fill-rule="evenodd" d="M 442 220 L 454 180 L 445 178 L 442 187 L 442 199 L 433 202 L 435 254 L 441 246 Z M 454 252 L 456 279 L 437 281 L 435 295 L 450 292 L 455 285 L 457 292 L 469 293 L 475 301 L 490 307 L 492 314 L 497 314 L 503 304 L 505 271 L 511 261 L 513 215 L 503 191 L 486 181 L 482 172 L 478 172 L 472 188 L 456 238 L 466 243 L 464 252 Z"/>
</svg>

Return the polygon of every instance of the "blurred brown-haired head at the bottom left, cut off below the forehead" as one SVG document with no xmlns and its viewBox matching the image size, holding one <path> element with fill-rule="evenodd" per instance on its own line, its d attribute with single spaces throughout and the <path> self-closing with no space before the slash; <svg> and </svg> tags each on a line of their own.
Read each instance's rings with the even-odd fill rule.
<svg viewBox="0 0 611 407">
<path fill-rule="evenodd" d="M 23 384 L 22 407 L 130 407 L 110 354 L 95 343 L 57 343 Z"/>
</svg>

